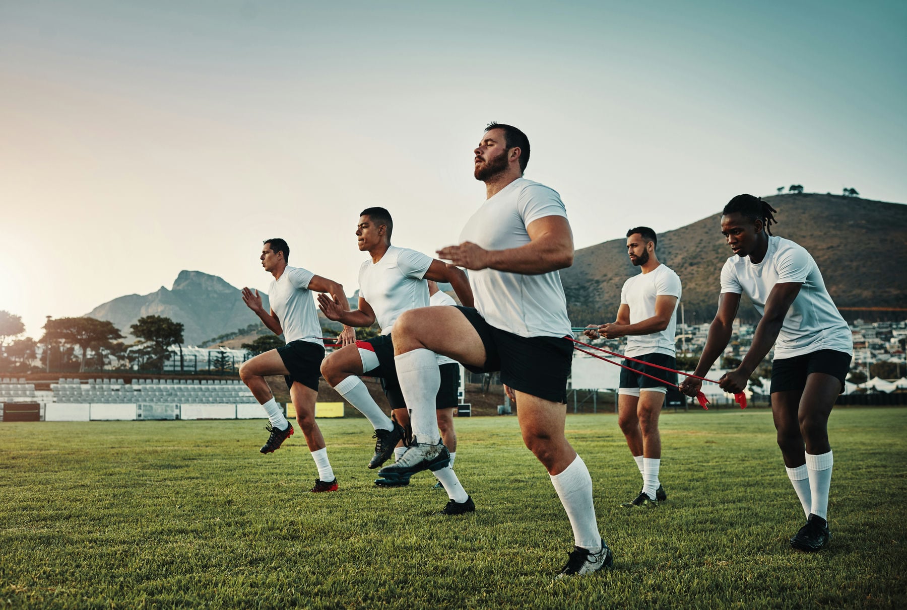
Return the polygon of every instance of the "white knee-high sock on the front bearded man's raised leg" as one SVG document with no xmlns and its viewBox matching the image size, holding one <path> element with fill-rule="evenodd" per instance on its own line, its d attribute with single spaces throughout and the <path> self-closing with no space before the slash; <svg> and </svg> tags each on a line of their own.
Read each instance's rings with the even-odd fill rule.
<svg viewBox="0 0 907 610">
<path fill-rule="evenodd" d="M 441 388 L 441 373 L 434 352 L 420 348 L 394 357 L 400 391 L 409 409 L 409 422 L 417 442 L 441 442 L 434 397 Z"/>
</svg>

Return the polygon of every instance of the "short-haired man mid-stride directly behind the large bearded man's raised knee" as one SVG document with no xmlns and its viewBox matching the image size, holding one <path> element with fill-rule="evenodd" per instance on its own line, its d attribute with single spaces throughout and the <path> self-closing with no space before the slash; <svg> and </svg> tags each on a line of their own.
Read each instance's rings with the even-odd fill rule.
<svg viewBox="0 0 907 610">
<path fill-rule="evenodd" d="M 372 469 L 390 458 L 395 446 L 404 438 L 404 428 L 409 425 L 406 402 L 395 369 L 392 331 L 397 318 L 405 311 L 430 304 L 428 280 L 449 282 L 461 301 L 473 302 L 473 291 L 463 270 L 410 248 L 391 245 L 393 230 L 394 220 L 385 208 L 367 208 L 359 215 L 356 239 L 359 250 L 368 252 L 370 257 L 359 267 L 356 311 L 345 311 L 335 299 L 318 295 L 318 306 L 330 320 L 350 326 L 371 326 L 376 320 L 381 326 L 380 336 L 345 346 L 327 356 L 321 365 L 325 380 L 375 428 L 375 455 L 368 462 L 368 468 Z M 450 369 L 456 364 L 435 363 L 435 368 L 439 367 L 443 369 L 439 373 L 446 382 L 436 393 L 435 402 L 439 407 L 454 406 L 456 386 Z M 391 421 L 381 411 L 359 379 L 363 374 L 381 379 L 387 401 L 399 423 Z M 448 502 L 442 509 L 445 515 L 462 515 L 475 510 L 473 499 L 463 490 L 450 464 L 438 466 L 434 475 L 447 491 Z M 378 487 L 402 487 L 408 483 L 408 477 L 375 480 Z"/>
</svg>

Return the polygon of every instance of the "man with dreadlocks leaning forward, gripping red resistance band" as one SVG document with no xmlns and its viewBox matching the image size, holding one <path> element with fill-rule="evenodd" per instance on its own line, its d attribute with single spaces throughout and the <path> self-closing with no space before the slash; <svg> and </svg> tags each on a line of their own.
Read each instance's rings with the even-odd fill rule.
<svg viewBox="0 0 907 610">
<path fill-rule="evenodd" d="M 822 274 L 804 247 L 771 234 L 776 210 L 752 195 L 731 199 L 721 233 L 734 252 L 721 271 L 718 313 L 694 374 L 703 376 L 724 352 L 746 293 L 762 319 L 743 362 L 719 380 L 725 392 L 743 392 L 756 366 L 775 345 L 772 414 L 787 476 L 806 515 L 791 546 L 817 551 L 831 538 L 826 521 L 832 481 L 828 416 L 853 357 L 853 340 L 828 295 Z M 688 377 L 681 391 L 695 396 L 701 382 Z"/>
</svg>

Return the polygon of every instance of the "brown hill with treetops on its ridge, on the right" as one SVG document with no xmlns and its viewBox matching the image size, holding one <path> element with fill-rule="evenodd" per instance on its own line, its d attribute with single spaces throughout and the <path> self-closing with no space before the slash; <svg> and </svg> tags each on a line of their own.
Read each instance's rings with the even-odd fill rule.
<svg viewBox="0 0 907 610">
<path fill-rule="evenodd" d="M 835 305 L 907 306 L 907 206 L 812 193 L 765 199 L 778 210 L 772 233 L 793 239 L 813 255 Z M 658 235 L 658 260 L 683 283 L 688 324 L 708 322 L 717 310 L 721 267 L 731 256 L 719 228 L 721 207 L 708 218 Z M 643 210 L 637 224 L 658 230 L 657 220 Z M 626 243 L 611 239 L 577 250 L 573 266 L 561 271 L 573 324 L 610 322 L 617 315 L 620 287 L 639 273 L 629 262 Z M 757 318 L 746 297 L 739 312 L 745 320 Z M 877 315 L 842 314 L 850 320 Z"/>
</svg>

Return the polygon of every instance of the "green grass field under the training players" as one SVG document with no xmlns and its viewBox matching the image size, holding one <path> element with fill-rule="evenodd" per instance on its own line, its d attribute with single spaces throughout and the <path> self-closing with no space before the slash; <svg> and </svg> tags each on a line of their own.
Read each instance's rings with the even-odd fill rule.
<svg viewBox="0 0 907 610">
<path fill-rule="evenodd" d="M 668 502 L 645 510 L 618 506 L 640 478 L 616 418 L 569 416 L 615 566 L 567 582 L 570 524 L 513 417 L 457 421 L 477 511 L 454 518 L 427 473 L 375 489 L 361 419 L 321 421 L 329 494 L 304 493 L 301 434 L 262 456 L 254 421 L 0 423 L 0 607 L 907 607 L 907 410 L 830 423 L 834 538 L 806 555 L 769 412 L 665 413 Z"/>
</svg>

